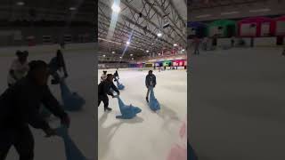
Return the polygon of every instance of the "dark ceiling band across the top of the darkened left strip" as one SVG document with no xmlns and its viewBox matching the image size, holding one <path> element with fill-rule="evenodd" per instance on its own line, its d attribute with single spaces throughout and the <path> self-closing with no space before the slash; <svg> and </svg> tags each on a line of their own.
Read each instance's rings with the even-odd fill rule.
<svg viewBox="0 0 285 160">
<path fill-rule="evenodd" d="M 94 0 L 1 0 L 0 20 L 94 22 Z"/>
</svg>

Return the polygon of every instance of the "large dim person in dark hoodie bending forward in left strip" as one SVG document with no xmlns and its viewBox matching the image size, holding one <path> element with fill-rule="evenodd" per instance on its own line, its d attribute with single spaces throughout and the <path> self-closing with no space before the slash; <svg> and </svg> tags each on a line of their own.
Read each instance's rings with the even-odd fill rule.
<svg viewBox="0 0 285 160">
<path fill-rule="evenodd" d="M 44 103 L 61 124 L 69 127 L 69 116 L 53 97 L 47 85 L 48 68 L 45 61 L 33 60 L 28 75 L 0 95 L 0 159 L 4 160 L 9 149 L 16 148 L 20 160 L 34 159 L 34 137 L 29 125 L 42 129 L 46 137 L 56 135 L 54 129 L 39 114 Z"/>
</svg>

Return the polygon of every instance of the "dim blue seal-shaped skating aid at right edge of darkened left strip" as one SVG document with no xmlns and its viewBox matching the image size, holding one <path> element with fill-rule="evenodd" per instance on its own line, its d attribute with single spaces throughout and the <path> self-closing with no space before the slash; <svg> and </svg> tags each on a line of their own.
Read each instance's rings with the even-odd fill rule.
<svg viewBox="0 0 285 160">
<path fill-rule="evenodd" d="M 64 80 L 61 81 L 61 98 L 65 110 L 77 111 L 85 104 L 85 100 L 77 92 L 70 92 L 68 85 Z"/>
</svg>

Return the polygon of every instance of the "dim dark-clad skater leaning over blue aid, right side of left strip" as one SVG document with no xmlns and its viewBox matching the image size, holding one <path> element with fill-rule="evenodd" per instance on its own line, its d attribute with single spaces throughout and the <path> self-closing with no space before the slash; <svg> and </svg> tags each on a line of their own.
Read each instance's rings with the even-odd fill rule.
<svg viewBox="0 0 285 160">
<path fill-rule="evenodd" d="M 65 61 L 62 55 L 61 50 L 58 50 L 56 52 L 56 57 L 54 57 L 50 63 L 48 64 L 49 67 L 49 73 L 51 76 L 53 76 L 52 79 L 52 84 L 60 84 L 61 82 L 61 77 L 59 76 L 59 74 L 57 73 L 58 70 L 61 71 L 61 68 L 63 68 L 63 72 L 64 72 L 64 77 L 67 78 L 68 72 L 65 66 Z"/>
</svg>

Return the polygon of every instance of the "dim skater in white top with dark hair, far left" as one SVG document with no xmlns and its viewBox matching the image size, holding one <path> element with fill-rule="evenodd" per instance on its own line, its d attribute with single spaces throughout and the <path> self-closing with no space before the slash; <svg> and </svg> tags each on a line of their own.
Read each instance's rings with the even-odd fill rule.
<svg viewBox="0 0 285 160">
<path fill-rule="evenodd" d="M 11 68 L 8 74 L 8 86 L 11 87 L 22 77 L 26 76 L 28 73 L 28 52 L 16 52 L 17 59 L 12 61 Z"/>
</svg>

